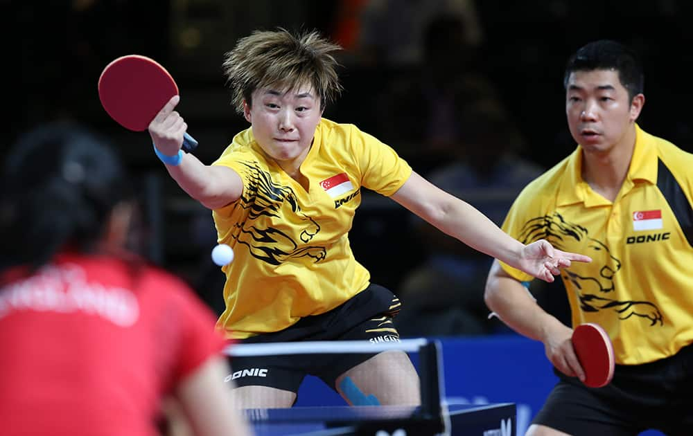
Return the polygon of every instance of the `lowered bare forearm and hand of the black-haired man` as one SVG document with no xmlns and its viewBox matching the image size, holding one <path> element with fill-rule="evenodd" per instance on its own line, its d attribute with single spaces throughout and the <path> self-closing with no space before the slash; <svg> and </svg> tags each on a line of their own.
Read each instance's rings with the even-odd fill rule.
<svg viewBox="0 0 693 436">
<path fill-rule="evenodd" d="M 584 370 L 572 347 L 572 329 L 539 307 L 523 284 L 503 271 L 498 260 L 493 262 L 486 280 L 484 300 L 505 325 L 540 340 L 547 358 L 559 371 L 584 380 Z"/>
</svg>

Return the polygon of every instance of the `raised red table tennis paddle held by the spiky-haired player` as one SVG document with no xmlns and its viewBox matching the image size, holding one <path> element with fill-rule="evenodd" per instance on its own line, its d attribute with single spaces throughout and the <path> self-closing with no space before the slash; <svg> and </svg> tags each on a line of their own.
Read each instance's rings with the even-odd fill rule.
<svg viewBox="0 0 693 436">
<path fill-rule="evenodd" d="M 121 56 L 108 64 L 98 78 L 98 98 L 103 109 L 121 126 L 144 131 L 178 86 L 166 69 L 146 56 Z M 185 134 L 183 149 L 191 152 L 198 146 Z"/>
</svg>

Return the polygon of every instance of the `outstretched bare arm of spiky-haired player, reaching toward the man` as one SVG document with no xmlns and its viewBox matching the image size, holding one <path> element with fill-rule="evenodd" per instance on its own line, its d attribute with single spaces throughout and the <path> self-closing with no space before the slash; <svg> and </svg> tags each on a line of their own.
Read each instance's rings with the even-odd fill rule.
<svg viewBox="0 0 693 436">
<path fill-rule="evenodd" d="M 590 262 L 587 256 L 557 250 L 544 240 L 522 244 L 469 203 L 437 188 L 416 172 L 392 199 L 477 251 L 547 282 L 553 282 L 559 269 L 570 266 L 573 260 Z"/>
</svg>

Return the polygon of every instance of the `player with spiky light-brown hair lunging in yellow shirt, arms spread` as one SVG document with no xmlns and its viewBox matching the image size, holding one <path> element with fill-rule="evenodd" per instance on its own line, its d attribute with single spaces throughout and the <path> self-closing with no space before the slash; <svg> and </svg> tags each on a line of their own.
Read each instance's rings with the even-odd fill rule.
<svg viewBox="0 0 693 436">
<path fill-rule="evenodd" d="M 285 30 L 240 39 L 224 67 L 234 106 L 250 127 L 212 165 L 181 151 L 187 125 L 173 110 L 178 96 L 149 126 L 168 173 L 213 210 L 219 242 L 234 248 L 234 262 L 222 268 L 226 309 L 217 323 L 229 338 L 398 340 L 392 325 L 398 299 L 370 282 L 349 247 L 362 187 L 544 280 L 571 260 L 588 260 L 545 241 L 520 244 L 412 171 L 391 147 L 354 125 L 322 118 L 341 89 L 338 48 L 317 33 Z M 382 250 L 387 257 L 388 247 Z M 229 379 L 236 379 L 244 406 L 291 406 L 306 374 L 321 377 L 351 404 L 420 401 L 403 352 L 243 358 L 234 359 L 234 369 L 238 377 Z"/>
</svg>

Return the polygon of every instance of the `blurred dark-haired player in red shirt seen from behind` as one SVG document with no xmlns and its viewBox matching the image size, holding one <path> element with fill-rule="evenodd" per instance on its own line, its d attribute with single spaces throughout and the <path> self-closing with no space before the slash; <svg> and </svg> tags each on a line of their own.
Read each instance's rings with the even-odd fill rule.
<svg viewBox="0 0 693 436">
<path fill-rule="evenodd" d="M 132 190 L 107 143 L 40 127 L 4 176 L 3 435 L 157 435 L 169 395 L 196 435 L 247 435 L 211 310 L 125 249 Z"/>
</svg>

